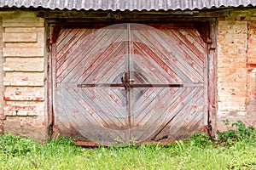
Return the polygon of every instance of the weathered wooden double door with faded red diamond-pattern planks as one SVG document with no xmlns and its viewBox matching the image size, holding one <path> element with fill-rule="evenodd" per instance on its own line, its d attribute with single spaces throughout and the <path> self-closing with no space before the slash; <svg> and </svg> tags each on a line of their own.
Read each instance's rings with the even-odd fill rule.
<svg viewBox="0 0 256 170">
<path fill-rule="evenodd" d="M 62 29 L 55 127 L 99 143 L 175 140 L 207 124 L 206 44 L 189 26 Z"/>
</svg>

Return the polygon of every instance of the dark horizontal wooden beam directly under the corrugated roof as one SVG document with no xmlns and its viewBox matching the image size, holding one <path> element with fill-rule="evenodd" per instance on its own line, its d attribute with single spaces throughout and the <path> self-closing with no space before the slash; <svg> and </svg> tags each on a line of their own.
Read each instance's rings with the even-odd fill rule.
<svg viewBox="0 0 256 170">
<path fill-rule="evenodd" d="M 210 8 L 201 10 L 169 10 L 169 11 L 61 11 L 41 10 L 38 17 L 45 19 L 90 19 L 90 20 L 127 20 L 127 19 L 183 19 L 183 18 L 216 18 L 229 16 L 231 13 L 246 11 L 256 14 L 256 8 Z"/>
</svg>

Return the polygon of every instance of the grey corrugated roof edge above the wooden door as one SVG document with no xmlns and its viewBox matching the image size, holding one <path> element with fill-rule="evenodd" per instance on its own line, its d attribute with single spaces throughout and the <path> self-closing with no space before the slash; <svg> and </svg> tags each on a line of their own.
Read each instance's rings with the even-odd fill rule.
<svg viewBox="0 0 256 170">
<path fill-rule="evenodd" d="M 212 7 L 256 6 L 256 0 L 1 0 L 1 7 L 43 7 L 50 9 L 176 10 Z"/>
</svg>

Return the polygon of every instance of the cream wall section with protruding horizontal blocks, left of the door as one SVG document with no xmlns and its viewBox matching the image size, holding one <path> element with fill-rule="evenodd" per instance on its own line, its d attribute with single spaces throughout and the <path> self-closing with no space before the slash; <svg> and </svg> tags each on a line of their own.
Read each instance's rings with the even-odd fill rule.
<svg viewBox="0 0 256 170">
<path fill-rule="evenodd" d="M 3 17 L 4 133 L 47 139 L 44 19 L 32 12 Z"/>
</svg>

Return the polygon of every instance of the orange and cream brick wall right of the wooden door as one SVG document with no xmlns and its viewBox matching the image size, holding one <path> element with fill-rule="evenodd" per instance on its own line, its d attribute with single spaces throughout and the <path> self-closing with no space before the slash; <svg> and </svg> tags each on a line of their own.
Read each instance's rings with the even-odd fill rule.
<svg viewBox="0 0 256 170">
<path fill-rule="evenodd" d="M 256 124 L 255 22 L 247 13 L 219 18 L 217 61 L 217 128 L 225 119 Z"/>
</svg>

